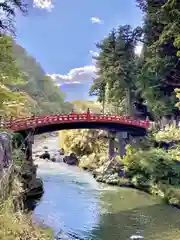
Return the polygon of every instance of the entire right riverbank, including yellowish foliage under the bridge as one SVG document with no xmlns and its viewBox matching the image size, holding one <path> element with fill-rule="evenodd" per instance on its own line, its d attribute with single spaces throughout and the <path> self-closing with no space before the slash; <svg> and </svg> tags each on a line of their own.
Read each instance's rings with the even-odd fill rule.
<svg viewBox="0 0 180 240">
<path fill-rule="evenodd" d="M 180 208 L 179 145 L 169 149 L 153 147 L 155 140 L 169 142 L 179 136 L 178 128 L 159 131 L 154 137 L 144 139 L 137 149 L 127 145 L 126 155 L 122 159 L 116 156 L 111 161 L 107 139 L 98 138 L 99 131 L 70 131 L 64 141 L 69 152 L 79 155 L 79 167 L 91 172 L 98 182 L 136 188 Z"/>
</svg>

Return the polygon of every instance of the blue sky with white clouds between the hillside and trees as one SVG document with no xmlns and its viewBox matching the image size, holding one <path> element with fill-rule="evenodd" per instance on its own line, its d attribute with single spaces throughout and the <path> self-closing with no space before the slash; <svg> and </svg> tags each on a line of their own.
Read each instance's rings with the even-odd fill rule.
<svg viewBox="0 0 180 240">
<path fill-rule="evenodd" d="M 61 85 L 68 100 L 87 99 L 95 43 L 118 25 L 141 25 L 141 12 L 135 0 L 50 2 L 34 0 L 28 16 L 18 15 L 17 42 Z"/>
</svg>

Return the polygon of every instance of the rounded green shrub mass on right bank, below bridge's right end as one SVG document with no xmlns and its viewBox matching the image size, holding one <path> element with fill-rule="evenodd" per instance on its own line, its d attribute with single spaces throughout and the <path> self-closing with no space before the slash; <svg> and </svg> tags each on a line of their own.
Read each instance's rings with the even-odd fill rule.
<svg viewBox="0 0 180 240">
<path fill-rule="evenodd" d="M 136 178 L 139 185 L 142 179 L 144 184 L 149 186 L 159 183 L 170 185 L 180 183 L 180 166 L 162 149 L 135 151 L 128 147 L 123 161 L 128 177 Z"/>
</svg>

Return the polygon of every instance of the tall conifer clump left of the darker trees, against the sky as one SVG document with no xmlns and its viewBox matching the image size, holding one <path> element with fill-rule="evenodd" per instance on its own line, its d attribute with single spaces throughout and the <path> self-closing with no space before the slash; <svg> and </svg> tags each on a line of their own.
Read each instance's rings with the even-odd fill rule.
<svg viewBox="0 0 180 240">
<path fill-rule="evenodd" d="M 134 97 L 135 77 L 138 71 L 137 56 L 134 49 L 142 37 L 142 29 L 131 26 L 119 26 L 108 37 L 97 44 L 100 49 L 96 57 L 98 78 L 90 89 L 100 102 L 111 103 L 118 112 L 118 107 L 126 99 L 129 112 Z"/>
</svg>

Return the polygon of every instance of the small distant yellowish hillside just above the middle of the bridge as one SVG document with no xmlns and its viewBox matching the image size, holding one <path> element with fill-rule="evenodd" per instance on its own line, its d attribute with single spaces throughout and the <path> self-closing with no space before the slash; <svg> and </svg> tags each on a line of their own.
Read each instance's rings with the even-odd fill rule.
<svg viewBox="0 0 180 240">
<path fill-rule="evenodd" d="M 100 114 L 101 105 L 95 101 L 86 101 L 86 100 L 74 100 L 72 101 L 75 112 L 86 112 L 89 108 L 91 112 Z"/>
</svg>

